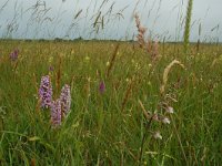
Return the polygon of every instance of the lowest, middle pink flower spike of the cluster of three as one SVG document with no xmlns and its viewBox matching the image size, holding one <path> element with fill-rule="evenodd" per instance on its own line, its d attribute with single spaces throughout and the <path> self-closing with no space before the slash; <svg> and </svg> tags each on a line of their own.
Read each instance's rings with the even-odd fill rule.
<svg viewBox="0 0 222 166">
<path fill-rule="evenodd" d="M 54 127 L 61 125 L 62 111 L 61 111 L 61 101 L 58 98 L 51 104 L 51 123 Z"/>
</svg>

